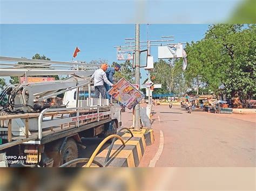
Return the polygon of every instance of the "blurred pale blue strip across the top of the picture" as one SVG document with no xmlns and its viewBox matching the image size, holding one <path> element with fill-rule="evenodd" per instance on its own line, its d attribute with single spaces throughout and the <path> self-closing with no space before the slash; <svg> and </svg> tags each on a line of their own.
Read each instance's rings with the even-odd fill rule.
<svg viewBox="0 0 256 191">
<path fill-rule="evenodd" d="M 2 24 L 225 23 L 243 0 L 0 0 Z"/>
</svg>

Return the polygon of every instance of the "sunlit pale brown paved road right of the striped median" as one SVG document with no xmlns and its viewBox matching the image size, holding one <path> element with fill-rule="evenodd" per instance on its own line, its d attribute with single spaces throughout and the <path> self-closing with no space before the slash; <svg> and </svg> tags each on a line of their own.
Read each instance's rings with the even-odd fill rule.
<svg viewBox="0 0 256 191">
<path fill-rule="evenodd" d="M 255 167 L 255 117 L 239 114 L 209 114 L 166 105 L 153 108 L 155 143 L 146 148 L 140 167 L 147 167 L 159 150 L 159 132 L 164 148 L 156 167 Z"/>
</svg>

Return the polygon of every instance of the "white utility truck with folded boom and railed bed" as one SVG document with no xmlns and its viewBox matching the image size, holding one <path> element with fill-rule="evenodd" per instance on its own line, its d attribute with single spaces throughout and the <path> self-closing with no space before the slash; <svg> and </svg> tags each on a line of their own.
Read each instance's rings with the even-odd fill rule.
<svg viewBox="0 0 256 191">
<path fill-rule="evenodd" d="M 79 157 L 81 138 L 107 137 L 122 125 L 119 104 L 93 96 L 90 76 L 99 65 L 5 56 L 0 61 L 0 76 L 20 82 L 0 95 L 1 167 L 58 167 Z"/>
</svg>

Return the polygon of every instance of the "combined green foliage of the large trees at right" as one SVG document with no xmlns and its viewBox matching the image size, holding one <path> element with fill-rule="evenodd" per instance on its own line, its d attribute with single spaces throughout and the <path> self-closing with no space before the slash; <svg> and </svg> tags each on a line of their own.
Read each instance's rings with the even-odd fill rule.
<svg viewBox="0 0 256 191">
<path fill-rule="evenodd" d="M 255 97 L 255 29 L 240 24 L 209 26 L 204 39 L 186 46 L 186 80 L 240 102 Z"/>
</svg>

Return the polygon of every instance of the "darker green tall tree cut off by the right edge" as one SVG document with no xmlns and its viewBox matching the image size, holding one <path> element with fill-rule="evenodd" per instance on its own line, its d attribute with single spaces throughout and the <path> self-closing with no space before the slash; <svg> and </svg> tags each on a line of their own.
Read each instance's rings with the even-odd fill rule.
<svg viewBox="0 0 256 191">
<path fill-rule="evenodd" d="M 222 45 L 224 93 L 240 102 L 255 97 L 255 25 L 213 25 L 206 38 Z"/>
</svg>

